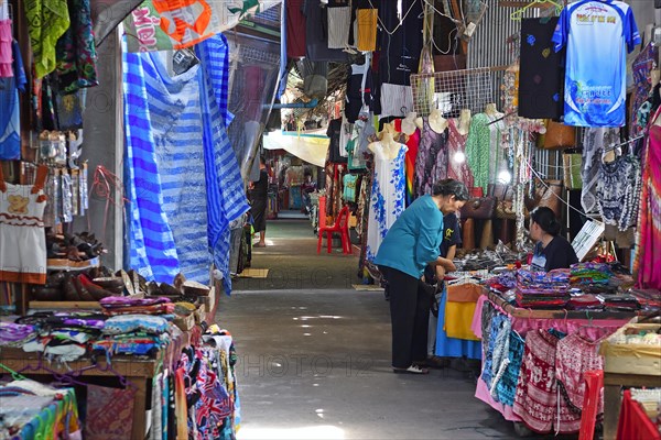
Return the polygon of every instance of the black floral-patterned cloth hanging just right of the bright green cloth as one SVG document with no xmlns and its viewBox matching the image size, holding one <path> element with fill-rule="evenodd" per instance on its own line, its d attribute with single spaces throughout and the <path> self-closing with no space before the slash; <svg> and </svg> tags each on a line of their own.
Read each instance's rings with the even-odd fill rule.
<svg viewBox="0 0 661 440">
<path fill-rule="evenodd" d="M 72 25 L 55 47 L 61 94 L 71 94 L 79 88 L 99 84 L 89 0 L 68 0 L 68 13 Z"/>
</svg>

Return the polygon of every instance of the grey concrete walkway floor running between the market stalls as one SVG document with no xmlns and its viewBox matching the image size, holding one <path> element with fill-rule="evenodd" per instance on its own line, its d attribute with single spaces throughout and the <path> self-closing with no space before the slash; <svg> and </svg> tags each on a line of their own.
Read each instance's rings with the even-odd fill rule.
<svg viewBox="0 0 661 440">
<path fill-rule="evenodd" d="M 511 424 L 473 397 L 475 382 L 463 365 L 427 376 L 392 373 L 383 293 L 358 292 L 353 278 L 343 279 L 354 276 L 355 258 L 317 256 L 305 221 L 270 221 L 267 243 L 252 256 L 252 267 L 270 268 L 264 288 L 257 289 L 263 279 L 235 282 L 218 314 L 236 334 L 239 439 L 516 437 Z"/>
</svg>

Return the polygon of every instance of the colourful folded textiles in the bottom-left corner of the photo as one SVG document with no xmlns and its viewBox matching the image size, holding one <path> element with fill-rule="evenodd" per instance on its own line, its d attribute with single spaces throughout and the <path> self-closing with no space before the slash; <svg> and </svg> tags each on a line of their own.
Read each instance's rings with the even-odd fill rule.
<svg viewBox="0 0 661 440">
<path fill-rule="evenodd" d="M 0 383 L 0 439 L 80 439 L 76 395 L 20 376 Z"/>
</svg>

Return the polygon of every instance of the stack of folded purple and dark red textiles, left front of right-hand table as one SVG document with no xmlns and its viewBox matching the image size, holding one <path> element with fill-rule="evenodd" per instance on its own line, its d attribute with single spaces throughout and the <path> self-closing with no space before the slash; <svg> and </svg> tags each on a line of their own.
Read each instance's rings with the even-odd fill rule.
<svg viewBox="0 0 661 440">
<path fill-rule="evenodd" d="M 570 272 L 521 270 L 517 274 L 517 306 L 531 309 L 563 308 L 571 298 Z"/>
</svg>

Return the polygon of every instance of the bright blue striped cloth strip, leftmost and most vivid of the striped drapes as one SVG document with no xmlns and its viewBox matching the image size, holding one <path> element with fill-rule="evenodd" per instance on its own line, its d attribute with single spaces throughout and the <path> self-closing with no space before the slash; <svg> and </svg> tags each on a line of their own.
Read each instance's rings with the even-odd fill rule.
<svg viewBox="0 0 661 440">
<path fill-rule="evenodd" d="M 129 265 L 148 279 L 171 282 L 178 256 L 163 210 L 145 75 L 138 54 L 123 52 L 126 188 L 129 200 Z"/>
</svg>

